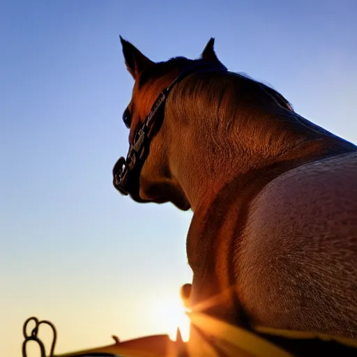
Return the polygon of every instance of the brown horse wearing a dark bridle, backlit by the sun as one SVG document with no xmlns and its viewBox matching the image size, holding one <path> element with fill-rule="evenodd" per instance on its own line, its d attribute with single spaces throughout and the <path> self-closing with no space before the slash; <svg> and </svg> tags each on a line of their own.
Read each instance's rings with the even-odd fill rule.
<svg viewBox="0 0 357 357">
<path fill-rule="evenodd" d="M 357 147 L 229 72 L 213 39 L 160 63 L 121 44 L 135 84 L 114 186 L 192 209 L 192 309 L 357 338 Z"/>
</svg>

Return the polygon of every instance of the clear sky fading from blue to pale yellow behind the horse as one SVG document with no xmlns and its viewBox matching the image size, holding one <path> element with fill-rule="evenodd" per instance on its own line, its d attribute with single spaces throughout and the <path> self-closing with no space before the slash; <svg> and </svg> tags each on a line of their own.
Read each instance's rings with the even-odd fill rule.
<svg viewBox="0 0 357 357">
<path fill-rule="evenodd" d="M 192 213 L 112 187 L 128 150 L 119 34 L 154 61 L 208 39 L 229 70 L 271 84 L 299 114 L 357 142 L 357 2 L 1 1 L 0 355 L 32 315 L 57 352 L 165 333 L 161 301 L 190 282 Z"/>
</svg>

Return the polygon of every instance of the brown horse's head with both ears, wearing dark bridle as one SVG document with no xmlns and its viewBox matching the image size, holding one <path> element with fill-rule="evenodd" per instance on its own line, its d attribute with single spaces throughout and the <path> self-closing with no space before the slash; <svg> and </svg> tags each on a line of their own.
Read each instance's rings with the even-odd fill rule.
<svg viewBox="0 0 357 357">
<path fill-rule="evenodd" d="M 130 129 L 130 150 L 126 160 L 121 158 L 114 165 L 114 186 L 136 202 L 172 202 L 182 210 L 190 208 L 172 172 L 169 144 L 175 138 L 165 121 L 165 107 L 170 105 L 169 92 L 165 90 L 169 87 L 169 91 L 174 91 L 177 82 L 196 70 L 210 66 L 225 69 L 215 55 L 213 43 L 211 38 L 199 59 L 177 57 L 155 63 L 121 38 L 126 66 L 135 83 L 130 103 L 123 113 L 123 121 Z M 160 97 L 163 91 L 164 96 Z M 158 98 L 163 100 L 158 102 Z M 148 116 L 151 117 L 149 123 Z"/>
</svg>

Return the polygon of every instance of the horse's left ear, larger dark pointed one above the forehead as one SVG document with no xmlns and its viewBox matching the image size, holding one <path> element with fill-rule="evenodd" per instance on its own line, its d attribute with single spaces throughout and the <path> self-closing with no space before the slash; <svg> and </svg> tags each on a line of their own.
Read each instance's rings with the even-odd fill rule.
<svg viewBox="0 0 357 357">
<path fill-rule="evenodd" d="M 144 54 L 137 50 L 137 47 L 130 42 L 124 40 L 121 36 L 119 37 L 121 47 L 123 48 L 123 56 L 126 61 L 126 68 L 128 68 L 130 75 L 136 80 L 146 68 L 153 65 L 153 61 L 144 56 Z"/>
</svg>

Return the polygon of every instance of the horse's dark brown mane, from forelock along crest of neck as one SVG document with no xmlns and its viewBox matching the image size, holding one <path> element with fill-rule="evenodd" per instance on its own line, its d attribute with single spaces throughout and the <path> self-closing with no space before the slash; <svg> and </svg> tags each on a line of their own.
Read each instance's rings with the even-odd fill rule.
<svg viewBox="0 0 357 357">
<path fill-rule="evenodd" d="M 149 92 L 155 89 L 157 93 L 167 73 L 177 75 L 197 61 L 202 59 L 174 57 L 155 63 L 142 73 L 139 86 L 148 84 Z M 169 112 L 182 123 L 202 119 L 200 124 L 211 131 L 218 146 L 220 139 L 234 139 L 239 132 L 240 145 L 257 149 L 264 156 L 288 150 L 300 139 L 333 136 L 296 114 L 289 101 L 271 86 L 243 73 L 229 72 L 223 65 L 222 71 L 193 73 L 183 79 L 174 87 L 169 102 Z"/>
</svg>

